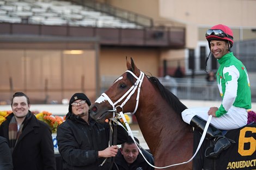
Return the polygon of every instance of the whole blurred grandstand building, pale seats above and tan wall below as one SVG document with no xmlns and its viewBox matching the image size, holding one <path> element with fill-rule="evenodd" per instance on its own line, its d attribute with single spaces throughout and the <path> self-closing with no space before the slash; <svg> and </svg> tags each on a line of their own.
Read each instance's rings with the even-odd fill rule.
<svg viewBox="0 0 256 170">
<path fill-rule="evenodd" d="M 94 100 L 126 56 L 158 75 L 159 54 L 185 47 L 184 27 L 155 27 L 150 17 L 93 0 L 1 0 L 0 14 L 2 104 L 15 91 L 33 103 L 61 103 L 77 91 Z"/>
</svg>

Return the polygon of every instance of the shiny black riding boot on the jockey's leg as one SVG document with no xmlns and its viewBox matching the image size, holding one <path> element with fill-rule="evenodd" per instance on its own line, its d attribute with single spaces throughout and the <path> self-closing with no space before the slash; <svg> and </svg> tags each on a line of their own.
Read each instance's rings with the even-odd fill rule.
<svg viewBox="0 0 256 170">
<path fill-rule="evenodd" d="M 190 125 L 195 129 L 199 130 L 200 133 L 203 133 L 206 121 L 198 116 L 194 116 L 191 119 Z M 227 137 L 225 137 L 221 130 L 215 128 L 211 124 L 208 127 L 206 132 L 206 137 L 210 140 L 214 140 L 214 147 L 209 147 L 205 150 L 205 157 L 217 159 L 220 153 L 228 149 L 231 145 Z"/>
</svg>

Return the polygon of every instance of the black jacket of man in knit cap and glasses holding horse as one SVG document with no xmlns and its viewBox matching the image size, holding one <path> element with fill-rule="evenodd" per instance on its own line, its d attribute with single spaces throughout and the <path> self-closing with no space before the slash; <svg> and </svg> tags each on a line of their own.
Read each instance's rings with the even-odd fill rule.
<svg viewBox="0 0 256 170">
<path fill-rule="evenodd" d="M 127 132 L 118 126 L 118 144 L 127 140 Z M 98 158 L 98 151 L 108 147 L 109 124 L 97 123 L 89 117 L 89 125 L 82 118 L 71 114 L 66 115 L 66 121 L 57 130 L 59 153 L 63 160 L 63 169 L 109 169 L 110 159 L 99 165 L 105 158 Z"/>
</svg>

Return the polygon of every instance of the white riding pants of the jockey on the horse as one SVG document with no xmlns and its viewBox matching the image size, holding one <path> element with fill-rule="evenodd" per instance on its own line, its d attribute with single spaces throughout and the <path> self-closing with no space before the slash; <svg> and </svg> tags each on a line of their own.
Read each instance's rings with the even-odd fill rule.
<svg viewBox="0 0 256 170">
<path fill-rule="evenodd" d="M 184 122 L 190 124 L 191 119 L 197 115 L 207 121 L 209 109 L 210 108 L 186 109 L 181 113 L 182 119 Z M 221 117 L 212 117 L 210 123 L 221 130 L 237 129 L 247 124 L 247 111 L 244 108 L 231 106 L 228 112 Z"/>
</svg>

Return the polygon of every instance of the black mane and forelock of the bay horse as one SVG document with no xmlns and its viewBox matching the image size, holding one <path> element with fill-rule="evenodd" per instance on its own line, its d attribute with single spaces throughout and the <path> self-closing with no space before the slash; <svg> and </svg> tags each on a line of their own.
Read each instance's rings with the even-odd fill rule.
<svg viewBox="0 0 256 170">
<path fill-rule="evenodd" d="M 127 73 L 127 78 L 132 82 L 132 84 L 135 83 L 133 76 L 130 73 Z M 181 112 L 187 109 L 187 107 L 180 102 L 179 98 L 173 95 L 173 93 L 168 89 L 166 89 L 166 87 L 164 87 L 156 77 L 147 76 L 147 78 L 149 79 L 150 83 L 159 90 L 164 100 L 166 100 L 167 103 L 174 109 L 174 111 L 181 116 Z"/>
</svg>

